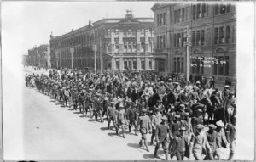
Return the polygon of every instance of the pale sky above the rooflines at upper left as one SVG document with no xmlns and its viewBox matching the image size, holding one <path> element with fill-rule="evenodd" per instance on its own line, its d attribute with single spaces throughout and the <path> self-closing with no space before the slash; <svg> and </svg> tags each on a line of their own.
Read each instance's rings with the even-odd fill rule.
<svg viewBox="0 0 256 162">
<path fill-rule="evenodd" d="M 3 50 L 24 54 L 34 45 L 49 44 L 50 32 L 60 36 L 102 18 L 154 17 L 152 2 L 3 2 Z M 9 46 L 12 44 L 12 46 Z M 6 46 L 5 46 L 6 45 Z"/>
</svg>

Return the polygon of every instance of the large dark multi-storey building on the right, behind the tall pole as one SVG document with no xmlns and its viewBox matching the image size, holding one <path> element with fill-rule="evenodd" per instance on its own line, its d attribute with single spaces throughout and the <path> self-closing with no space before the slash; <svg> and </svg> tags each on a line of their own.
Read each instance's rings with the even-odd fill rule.
<svg viewBox="0 0 256 162">
<path fill-rule="evenodd" d="M 156 70 L 226 77 L 236 82 L 236 5 L 234 3 L 155 3 Z M 189 33 L 184 28 L 189 28 Z M 189 36 L 189 64 L 187 47 Z M 165 68 L 166 67 L 166 68 Z"/>
</svg>

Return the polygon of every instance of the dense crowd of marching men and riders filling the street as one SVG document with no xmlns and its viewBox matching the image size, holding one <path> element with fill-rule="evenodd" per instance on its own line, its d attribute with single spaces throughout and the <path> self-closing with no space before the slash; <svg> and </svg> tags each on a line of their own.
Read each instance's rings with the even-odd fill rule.
<svg viewBox="0 0 256 162">
<path fill-rule="evenodd" d="M 49 75 L 26 75 L 26 87 L 38 89 L 64 106 L 102 123 L 113 125 L 116 135 L 141 134 L 139 145 L 166 160 L 176 156 L 196 160 L 223 159 L 221 149 L 236 145 L 236 88 L 218 90 L 213 78 L 189 81 L 181 75 L 154 71 L 49 70 Z M 210 81 L 210 82 L 209 82 Z M 213 80 L 214 81 L 214 80 Z M 213 88 L 212 88 L 213 87 Z M 151 138 L 147 139 L 148 133 Z"/>
</svg>

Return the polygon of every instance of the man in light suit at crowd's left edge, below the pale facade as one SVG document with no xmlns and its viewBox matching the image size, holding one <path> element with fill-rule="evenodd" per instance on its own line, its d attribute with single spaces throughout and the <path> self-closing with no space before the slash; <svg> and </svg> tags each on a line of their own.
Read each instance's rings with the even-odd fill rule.
<svg viewBox="0 0 256 162">
<path fill-rule="evenodd" d="M 122 128 L 122 134 L 125 138 L 125 126 L 127 125 L 127 120 L 126 120 L 126 113 L 125 113 L 125 109 L 124 109 L 124 105 L 123 103 L 120 103 L 119 104 L 119 109 L 118 109 L 118 112 L 117 112 L 117 127 L 118 127 L 118 130 L 119 130 L 119 126 L 121 126 Z M 118 131 L 119 133 L 119 131 Z"/>
</svg>

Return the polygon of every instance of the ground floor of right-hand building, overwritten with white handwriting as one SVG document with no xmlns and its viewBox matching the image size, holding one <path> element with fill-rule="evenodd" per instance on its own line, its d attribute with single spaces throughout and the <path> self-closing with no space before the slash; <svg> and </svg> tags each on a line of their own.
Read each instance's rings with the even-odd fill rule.
<svg viewBox="0 0 256 162">
<path fill-rule="evenodd" d="M 163 73 L 187 74 L 186 48 L 177 48 L 166 53 L 154 53 L 155 70 Z M 235 47 L 192 47 L 189 48 L 189 75 L 214 77 L 217 84 L 224 84 L 227 77 L 236 84 Z"/>
</svg>

